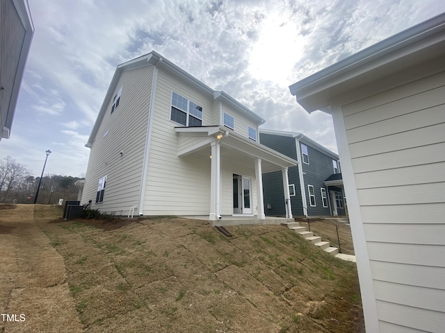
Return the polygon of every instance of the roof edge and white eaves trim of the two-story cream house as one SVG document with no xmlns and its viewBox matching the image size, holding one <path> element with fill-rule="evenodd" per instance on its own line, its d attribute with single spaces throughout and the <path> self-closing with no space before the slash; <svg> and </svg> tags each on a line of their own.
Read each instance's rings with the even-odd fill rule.
<svg viewBox="0 0 445 333">
<path fill-rule="evenodd" d="M 204 94 L 209 94 L 209 96 L 213 99 L 218 99 L 221 101 L 225 101 L 225 103 L 229 104 L 232 108 L 240 112 L 241 114 L 244 114 L 245 116 L 249 117 L 250 119 L 257 121 L 259 124 L 266 122 L 264 119 L 259 117 L 257 114 L 246 108 L 244 105 L 236 101 L 232 98 L 232 96 L 229 96 L 225 92 L 218 92 L 211 87 L 205 85 L 200 80 L 195 78 L 194 76 L 191 76 L 191 74 L 188 74 L 184 69 L 179 68 L 177 65 L 175 65 L 170 60 L 164 58 L 159 53 L 156 53 L 155 51 L 152 51 L 150 53 L 145 54 L 144 56 L 140 56 L 138 58 L 135 58 L 133 60 L 129 60 L 127 62 L 124 62 L 123 64 L 119 65 L 115 71 L 115 74 L 113 76 L 113 79 L 111 80 L 110 86 L 108 87 L 108 91 L 106 92 L 104 102 L 102 103 L 102 107 L 99 110 L 99 114 L 97 115 L 97 119 L 95 122 L 95 125 L 93 126 L 91 130 L 90 137 L 88 138 L 88 142 L 85 146 L 91 148 L 92 141 L 94 140 L 95 136 L 97 135 L 97 131 L 99 130 L 100 123 L 102 122 L 102 119 L 104 118 L 104 115 L 106 113 L 106 110 L 108 108 L 108 101 L 111 101 L 113 98 L 113 94 L 115 92 L 115 89 L 119 83 L 120 76 L 122 75 L 123 71 L 129 71 L 132 69 L 137 69 L 140 67 L 145 66 L 158 66 L 161 69 L 165 69 L 166 71 L 169 71 L 172 74 L 175 74 L 176 76 L 181 77 L 182 79 L 188 81 L 190 85 L 193 85 L 196 89 L 200 90 Z"/>
</svg>

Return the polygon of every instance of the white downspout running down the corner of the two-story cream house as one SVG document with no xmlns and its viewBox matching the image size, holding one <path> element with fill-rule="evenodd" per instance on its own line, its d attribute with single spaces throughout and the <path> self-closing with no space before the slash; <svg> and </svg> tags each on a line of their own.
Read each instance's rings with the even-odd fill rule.
<svg viewBox="0 0 445 333">
<path fill-rule="evenodd" d="M 145 150 L 144 150 L 144 160 L 143 160 L 143 168 L 142 168 L 142 177 L 140 180 L 140 194 L 139 194 L 139 216 L 143 215 L 143 207 L 145 200 L 145 188 L 147 187 L 147 171 L 148 171 L 148 157 L 150 153 L 150 142 L 152 141 L 152 126 L 153 126 L 153 117 L 154 117 L 154 100 L 156 94 L 156 83 L 158 82 L 158 67 L 162 62 L 162 58 L 159 58 L 158 63 L 154 66 L 153 69 L 153 78 L 152 78 L 152 92 L 150 96 L 150 108 L 148 115 L 148 123 L 147 123 L 147 135 L 145 135 Z"/>
</svg>

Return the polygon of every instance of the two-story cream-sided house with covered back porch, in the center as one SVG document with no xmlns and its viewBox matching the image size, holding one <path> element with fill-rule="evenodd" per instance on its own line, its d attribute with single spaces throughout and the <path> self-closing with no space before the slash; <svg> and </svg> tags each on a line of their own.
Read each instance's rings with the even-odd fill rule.
<svg viewBox="0 0 445 333">
<path fill-rule="evenodd" d="M 115 214 L 137 205 L 140 215 L 264 219 L 261 172 L 280 170 L 287 181 L 297 162 L 259 144 L 261 123 L 154 51 L 125 62 L 86 144 L 81 203 Z"/>
</svg>

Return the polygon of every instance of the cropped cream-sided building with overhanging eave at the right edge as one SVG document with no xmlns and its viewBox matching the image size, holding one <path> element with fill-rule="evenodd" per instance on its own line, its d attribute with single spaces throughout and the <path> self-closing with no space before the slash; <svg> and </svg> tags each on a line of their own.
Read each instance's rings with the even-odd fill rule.
<svg viewBox="0 0 445 333">
<path fill-rule="evenodd" d="M 445 14 L 291 85 L 332 114 L 367 332 L 444 332 Z"/>
</svg>

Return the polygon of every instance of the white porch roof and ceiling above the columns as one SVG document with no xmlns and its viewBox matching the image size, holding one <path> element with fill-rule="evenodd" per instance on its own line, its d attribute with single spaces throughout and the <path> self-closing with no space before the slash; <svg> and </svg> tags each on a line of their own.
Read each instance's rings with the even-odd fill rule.
<svg viewBox="0 0 445 333">
<path fill-rule="evenodd" d="M 238 135 L 223 126 L 181 127 L 175 130 L 179 134 L 178 156 L 192 155 L 199 158 L 210 158 L 211 142 L 220 142 L 223 164 L 233 161 L 252 167 L 254 160 L 260 158 L 261 169 L 264 173 L 281 171 L 282 168 L 298 164 L 296 160 L 254 142 L 252 139 Z M 222 137 L 218 139 L 218 135 L 222 135 Z M 193 140 L 190 140 L 191 137 Z M 186 144 L 187 140 L 191 144 Z"/>
</svg>

